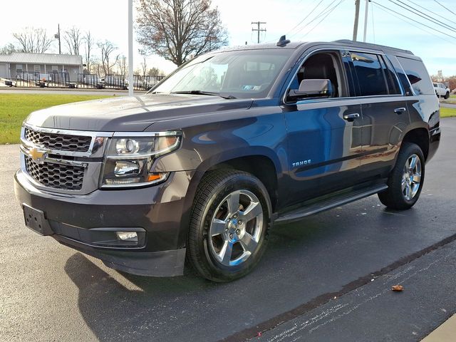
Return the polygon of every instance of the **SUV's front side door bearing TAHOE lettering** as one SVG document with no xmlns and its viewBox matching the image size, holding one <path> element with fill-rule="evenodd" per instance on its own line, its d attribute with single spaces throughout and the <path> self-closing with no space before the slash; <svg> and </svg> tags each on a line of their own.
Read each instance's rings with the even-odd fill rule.
<svg viewBox="0 0 456 342">
<path fill-rule="evenodd" d="M 310 74 L 306 74 L 304 62 L 301 78 L 330 79 L 331 83 L 336 83 L 335 93 L 339 97 L 301 100 L 285 107 L 289 189 L 292 189 L 289 202 L 324 195 L 356 182 L 361 154 L 361 105 L 356 98 L 348 97 L 349 86 L 339 53 L 333 51 L 329 55 L 335 62 L 336 73 L 328 62 L 329 65 L 321 66 L 326 71 L 318 71 L 318 66 L 313 65 Z M 316 59 L 323 61 L 325 58 L 318 56 Z M 299 82 L 294 80 L 291 84 L 296 83 Z M 346 117 L 350 114 L 353 119 Z"/>
</svg>

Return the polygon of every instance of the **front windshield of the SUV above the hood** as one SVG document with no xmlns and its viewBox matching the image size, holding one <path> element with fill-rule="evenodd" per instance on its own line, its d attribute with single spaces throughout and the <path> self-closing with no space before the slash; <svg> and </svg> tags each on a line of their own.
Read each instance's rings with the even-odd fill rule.
<svg viewBox="0 0 456 342">
<path fill-rule="evenodd" d="M 178 69 L 152 93 L 261 98 L 271 89 L 291 52 L 261 49 L 202 55 Z"/>
</svg>

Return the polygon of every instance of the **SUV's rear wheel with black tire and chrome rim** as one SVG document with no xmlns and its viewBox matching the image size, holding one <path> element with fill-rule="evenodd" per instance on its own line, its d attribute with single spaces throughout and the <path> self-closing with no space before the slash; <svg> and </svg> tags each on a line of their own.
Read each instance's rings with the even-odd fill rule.
<svg viewBox="0 0 456 342">
<path fill-rule="evenodd" d="M 388 177 L 388 190 L 378 193 L 378 198 L 390 209 L 410 209 L 420 197 L 424 180 L 423 151 L 412 142 L 404 142 Z"/>
</svg>

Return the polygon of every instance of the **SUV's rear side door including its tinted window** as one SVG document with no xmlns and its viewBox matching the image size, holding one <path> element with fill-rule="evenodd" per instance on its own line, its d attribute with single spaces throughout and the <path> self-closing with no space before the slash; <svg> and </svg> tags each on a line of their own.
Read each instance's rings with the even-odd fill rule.
<svg viewBox="0 0 456 342">
<path fill-rule="evenodd" d="M 398 78 L 381 53 L 350 51 L 361 103 L 362 177 L 387 177 L 410 123 Z"/>
</svg>

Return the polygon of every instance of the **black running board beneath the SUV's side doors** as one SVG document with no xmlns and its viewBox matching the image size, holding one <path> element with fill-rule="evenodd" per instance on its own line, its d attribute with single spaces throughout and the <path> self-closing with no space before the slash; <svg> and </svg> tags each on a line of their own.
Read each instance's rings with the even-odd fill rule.
<svg viewBox="0 0 456 342">
<path fill-rule="evenodd" d="M 316 214 L 317 212 L 323 212 L 324 210 L 340 207 L 343 204 L 348 204 L 358 199 L 375 195 L 376 193 L 382 192 L 386 189 L 388 189 L 388 185 L 382 184 L 375 185 L 375 187 L 368 187 L 355 191 L 352 190 L 351 192 L 343 192 L 333 197 L 326 197 L 319 201 L 314 201 L 308 205 L 294 209 L 291 212 L 284 212 L 283 214 L 279 214 L 279 217 L 277 217 L 274 223 L 280 224 L 296 221 L 298 219 L 302 219 L 303 217 Z"/>
</svg>

